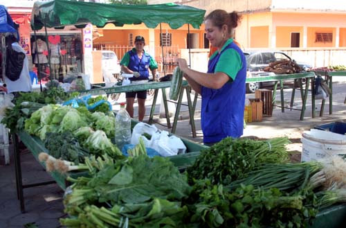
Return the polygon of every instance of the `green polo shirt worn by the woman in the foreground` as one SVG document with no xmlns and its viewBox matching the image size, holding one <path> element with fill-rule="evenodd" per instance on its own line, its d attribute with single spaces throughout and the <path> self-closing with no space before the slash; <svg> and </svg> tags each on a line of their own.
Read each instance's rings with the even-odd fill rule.
<svg viewBox="0 0 346 228">
<path fill-rule="evenodd" d="M 221 51 L 223 51 L 228 44 L 232 43 L 233 39 L 229 39 L 226 41 L 224 46 L 222 46 Z M 210 56 L 210 60 L 212 58 L 215 58 L 217 55 L 219 55 L 218 51 L 215 51 L 215 53 Z M 237 73 L 242 69 L 242 59 L 240 58 L 240 55 L 235 49 L 227 49 L 222 53 L 222 55 L 219 58 L 219 61 L 217 62 L 215 66 L 215 73 L 216 72 L 223 72 L 226 73 L 232 80 L 235 80 L 235 77 L 237 76 Z"/>
</svg>

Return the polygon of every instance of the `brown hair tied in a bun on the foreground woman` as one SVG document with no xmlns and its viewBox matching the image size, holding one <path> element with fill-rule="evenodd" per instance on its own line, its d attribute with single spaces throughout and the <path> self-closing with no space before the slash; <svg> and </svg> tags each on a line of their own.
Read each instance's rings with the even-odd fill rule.
<svg viewBox="0 0 346 228">
<path fill-rule="evenodd" d="M 242 17 L 235 11 L 228 13 L 225 10 L 214 10 L 204 18 L 204 20 L 207 19 L 212 21 L 212 24 L 220 29 L 226 24 L 228 26 L 228 34 L 232 34 L 233 28 L 237 28 Z"/>
</svg>

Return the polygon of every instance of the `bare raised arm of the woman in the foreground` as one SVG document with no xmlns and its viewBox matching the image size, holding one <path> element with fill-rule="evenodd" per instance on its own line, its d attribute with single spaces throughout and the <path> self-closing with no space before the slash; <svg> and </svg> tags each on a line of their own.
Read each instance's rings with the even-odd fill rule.
<svg viewBox="0 0 346 228">
<path fill-rule="evenodd" d="M 199 86 L 202 85 L 203 87 L 208 87 L 210 89 L 220 89 L 230 79 L 230 77 L 226 73 L 223 73 L 223 72 L 201 73 L 199 71 L 194 71 L 192 69 L 189 69 L 185 59 L 179 59 L 178 62 L 179 62 L 179 67 L 181 71 L 183 71 L 187 75 L 185 78 L 192 79 Z M 190 83 L 189 80 L 188 82 Z M 192 85 L 191 87 L 194 88 Z M 201 89 L 199 89 L 199 91 L 198 89 L 197 90 L 194 89 L 194 90 L 200 94 L 199 91 Z"/>
</svg>

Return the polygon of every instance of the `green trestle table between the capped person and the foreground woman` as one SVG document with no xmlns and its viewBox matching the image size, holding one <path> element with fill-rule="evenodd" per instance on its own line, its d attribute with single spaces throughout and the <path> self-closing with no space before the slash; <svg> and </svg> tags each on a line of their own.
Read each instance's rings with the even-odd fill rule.
<svg viewBox="0 0 346 228">
<path fill-rule="evenodd" d="M 102 87 L 104 84 L 98 84 L 96 85 L 99 88 L 95 89 L 89 89 L 89 90 L 84 90 L 80 91 L 81 95 L 86 95 L 86 94 L 91 94 L 91 95 L 100 95 L 100 94 L 118 94 L 118 93 L 125 93 L 125 92 L 131 92 L 131 91 L 143 91 L 147 89 L 154 89 L 154 98 L 153 98 L 153 103 L 152 103 L 152 108 L 150 110 L 149 114 L 149 123 L 154 122 L 154 112 L 155 112 L 155 107 L 156 107 L 156 100 L 158 96 L 158 89 L 162 90 L 163 94 L 163 105 L 165 107 L 165 115 L 166 115 L 166 120 L 167 120 L 167 128 L 171 128 L 171 123 L 170 123 L 170 116 L 168 112 L 168 106 L 167 102 L 173 102 L 176 103 L 176 112 L 174 115 L 174 121 L 172 125 L 172 133 L 176 132 L 176 125 L 178 123 L 179 119 L 179 112 L 183 100 L 183 94 L 184 91 L 186 92 L 186 96 L 188 99 L 188 109 L 189 109 L 189 116 L 190 116 L 190 125 L 191 125 L 191 130 L 192 130 L 192 137 L 196 137 L 196 126 L 194 124 L 194 109 L 192 109 L 192 102 L 191 102 L 191 88 L 188 85 L 188 82 L 186 80 L 183 80 L 183 87 L 181 89 L 181 93 L 179 94 L 179 98 L 177 102 L 174 102 L 172 100 L 167 100 L 165 88 L 169 88 L 171 86 L 171 82 L 147 82 L 143 84 L 131 84 L 131 85 L 124 85 L 124 86 L 115 86 L 115 87 Z"/>
</svg>

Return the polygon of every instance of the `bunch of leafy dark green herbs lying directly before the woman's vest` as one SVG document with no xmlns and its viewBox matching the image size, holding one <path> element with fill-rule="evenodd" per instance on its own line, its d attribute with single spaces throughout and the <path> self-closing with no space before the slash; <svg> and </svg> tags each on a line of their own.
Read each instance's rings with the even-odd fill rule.
<svg viewBox="0 0 346 228">
<path fill-rule="evenodd" d="M 189 182 L 193 179 L 210 179 L 212 184 L 230 184 L 235 179 L 265 163 L 284 163 L 289 160 L 286 138 L 254 141 L 250 139 L 223 139 L 201 151 L 188 168 Z"/>
</svg>

